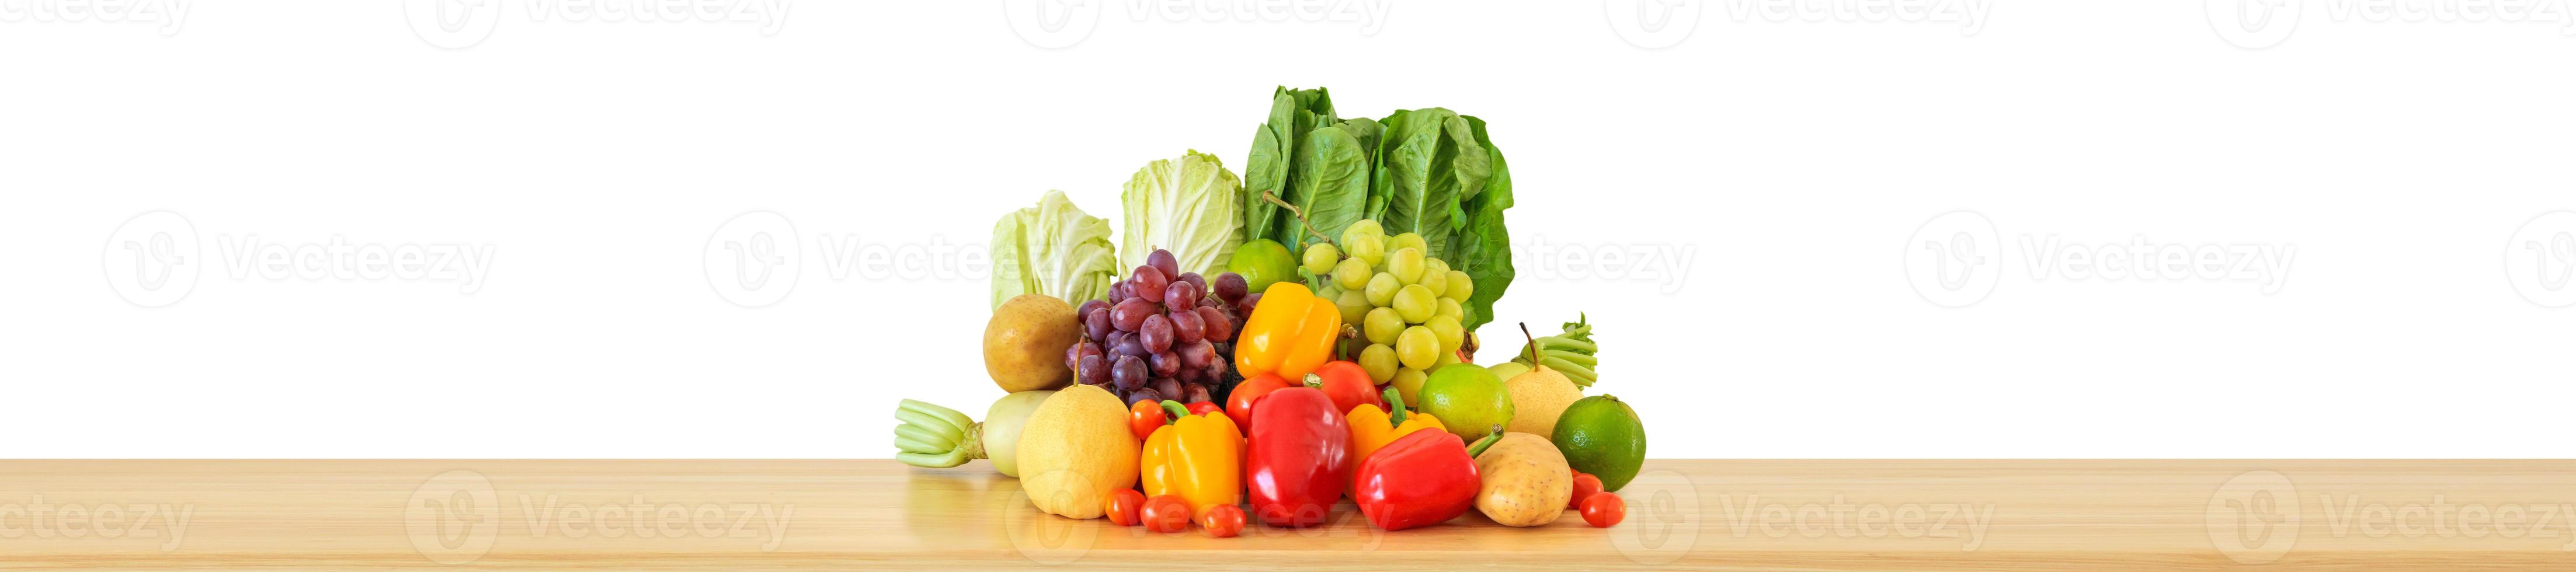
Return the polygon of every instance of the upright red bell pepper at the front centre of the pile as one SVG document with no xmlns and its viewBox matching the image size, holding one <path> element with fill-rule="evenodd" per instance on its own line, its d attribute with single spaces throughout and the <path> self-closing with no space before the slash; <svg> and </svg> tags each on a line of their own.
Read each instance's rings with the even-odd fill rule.
<svg viewBox="0 0 2576 572">
<path fill-rule="evenodd" d="M 1252 513 L 1270 526 L 1321 526 L 1350 484 L 1350 423 L 1319 389 L 1270 392 L 1252 410 L 1244 443 L 1244 487 Z"/>
</svg>

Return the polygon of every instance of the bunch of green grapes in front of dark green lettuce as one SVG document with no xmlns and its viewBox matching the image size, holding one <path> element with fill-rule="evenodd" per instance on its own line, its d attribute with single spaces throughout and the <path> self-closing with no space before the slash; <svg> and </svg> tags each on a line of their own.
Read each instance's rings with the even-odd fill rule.
<svg viewBox="0 0 2576 572">
<path fill-rule="evenodd" d="M 1306 247 L 1303 265 L 1316 276 L 1316 296 L 1342 309 L 1342 322 L 1360 327 L 1360 368 L 1378 384 L 1419 386 L 1427 371 L 1458 363 L 1466 345 L 1461 301 L 1476 283 L 1425 255 L 1422 234 L 1386 237 L 1386 227 L 1363 219 L 1342 229 L 1342 242 Z M 1412 381 L 1412 384 L 1406 384 Z M 1404 392 L 1412 394 L 1412 392 Z"/>
</svg>

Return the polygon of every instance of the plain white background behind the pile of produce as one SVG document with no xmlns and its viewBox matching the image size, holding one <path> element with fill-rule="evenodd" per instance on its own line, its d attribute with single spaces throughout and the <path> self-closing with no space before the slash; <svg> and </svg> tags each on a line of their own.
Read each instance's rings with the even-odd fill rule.
<svg viewBox="0 0 2576 572">
<path fill-rule="evenodd" d="M 2537 271 L 2504 263 L 2517 229 L 2576 232 L 2522 229 L 2576 209 L 2563 21 L 2287 0 L 2264 44 L 2200 3 L 1996 0 L 1971 26 L 1680 0 L 1685 23 L 1623 36 L 1628 0 L 1391 0 L 1376 23 L 1090 0 L 1087 33 L 1023 36 L 1005 13 L 1030 5 L 989 0 L 768 23 L 489 3 L 464 39 L 394 0 L 188 0 L 175 23 L 0 3 L 0 456 L 891 456 L 899 397 L 981 417 L 1002 394 L 987 286 L 953 263 L 835 278 L 819 240 L 979 245 L 1048 188 L 1115 219 L 1149 160 L 1239 173 L 1273 85 L 1492 121 L 1515 245 L 1692 253 L 1654 276 L 1530 253 L 1497 307 L 1589 312 L 1595 392 L 1636 405 L 1651 456 L 2568 451 L 2576 309 L 2537 301 L 2571 294 L 2524 296 Z M 165 307 L 113 289 L 118 227 L 149 211 L 198 237 Z M 768 307 L 703 265 L 744 211 L 804 253 Z M 1906 271 L 1947 211 L 2002 247 L 1968 307 Z M 495 258 L 471 294 L 270 281 L 227 268 L 252 234 Z M 2295 258 L 2272 294 L 2032 278 L 2022 237 Z"/>
</svg>

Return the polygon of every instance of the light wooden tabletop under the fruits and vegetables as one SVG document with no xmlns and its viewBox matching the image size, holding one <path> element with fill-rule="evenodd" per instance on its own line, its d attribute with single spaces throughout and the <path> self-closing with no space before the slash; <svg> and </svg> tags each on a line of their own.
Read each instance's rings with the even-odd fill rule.
<svg viewBox="0 0 2576 572">
<path fill-rule="evenodd" d="M 1628 520 L 1159 536 L 989 464 L 0 461 L 0 567 L 2576 569 L 2576 461 L 1649 461 Z"/>
</svg>

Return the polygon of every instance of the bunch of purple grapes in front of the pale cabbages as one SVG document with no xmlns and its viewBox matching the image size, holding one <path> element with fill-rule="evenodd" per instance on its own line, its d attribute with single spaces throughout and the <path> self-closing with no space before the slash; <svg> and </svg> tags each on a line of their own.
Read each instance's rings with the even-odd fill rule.
<svg viewBox="0 0 2576 572">
<path fill-rule="evenodd" d="M 1082 340 L 1064 348 L 1074 381 L 1110 389 L 1136 402 L 1213 402 L 1231 376 L 1234 332 L 1262 294 L 1249 294 L 1236 273 L 1211 283 L 1182 273 L 1172 250 L 1154 250 L 1110 299 L 1082 301 Z"/>
</svg>

